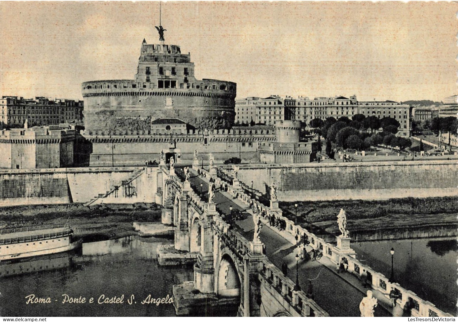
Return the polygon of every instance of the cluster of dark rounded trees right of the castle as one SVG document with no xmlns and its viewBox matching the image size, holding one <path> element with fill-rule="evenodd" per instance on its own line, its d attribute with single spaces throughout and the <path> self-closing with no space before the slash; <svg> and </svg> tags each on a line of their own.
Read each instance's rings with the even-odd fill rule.
<svg viewBox="0 0 458 322">
<path fill-rule="evenodd" d="M 353 115 L 350 120 L 342 116 L 337 120 L 328 117 L 326 120 L 314 119 L 310 127 L 315 133 L 326 139 L 326 153 L 331 157 L 332 143 L 344 149 L 354 150 L 367 149 L 379 144 L 399 147 L 401 150 L 410 147 L 412 142 L 409 139 L 398 137 L 395 134 L 399 129 L 399 122 L 391 117 L 379 119 L 375 116 L 365 117 L 363 114 Z M 374 133 L 382 128 L 383 131 Z"/>
</svg>

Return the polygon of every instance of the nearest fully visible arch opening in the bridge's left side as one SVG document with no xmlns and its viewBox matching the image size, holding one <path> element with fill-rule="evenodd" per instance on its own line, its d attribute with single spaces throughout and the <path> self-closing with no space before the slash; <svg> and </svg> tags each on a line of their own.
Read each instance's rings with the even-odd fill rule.
<svg viewBox="0 0 458 322">
<path fill-rule="evenodd" d="M 231 251 L 221 252 L 215 273 L 216 295 L 219 297 L 240 297 L 243 279 L 237 266 L 237 260 Z"/>
</svg>

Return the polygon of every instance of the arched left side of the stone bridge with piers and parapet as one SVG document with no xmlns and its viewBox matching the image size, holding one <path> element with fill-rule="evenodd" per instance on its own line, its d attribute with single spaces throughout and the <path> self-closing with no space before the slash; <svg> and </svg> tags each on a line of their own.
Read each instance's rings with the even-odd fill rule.
<svg viewBox="0 0 458 322">
<path fill-rule="evenodd" d="M 236 231 L 216 203 L 202 200 L 202 193 L 193 191 L 189 181 L 182 182 L 175 169 L 160 169 L 162 223 L 176 229 L 174 245 L 158 247 L 158 261 L 194 263 L 194 280 L 173 287 L 177 315 L 231 305 L 244 317 L 328 316 L 304 291 L 294 290 L 293 281 L 264 255 L 262 242 Z M 216 175 L 214 179 L 220 183 Z"/>
</svg>

